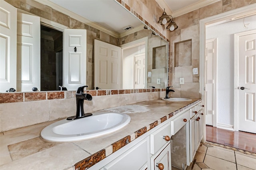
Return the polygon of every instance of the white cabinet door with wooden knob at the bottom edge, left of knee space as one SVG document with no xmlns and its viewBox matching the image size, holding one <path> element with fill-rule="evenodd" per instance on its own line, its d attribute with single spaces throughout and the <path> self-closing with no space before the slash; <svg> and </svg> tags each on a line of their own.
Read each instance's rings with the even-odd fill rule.
<svg viewBox="0 0 256 170">
<path fill-rule="evenodd" d="M 164 170 L 171 170 L 171 146 L 170 142 L 167 146 L 163 147 L 163 150 L 154 154 L 151 157 L 151 170 L 159 170 L 158 165 L 162 164 L 164 166 Z"/>
</svg>

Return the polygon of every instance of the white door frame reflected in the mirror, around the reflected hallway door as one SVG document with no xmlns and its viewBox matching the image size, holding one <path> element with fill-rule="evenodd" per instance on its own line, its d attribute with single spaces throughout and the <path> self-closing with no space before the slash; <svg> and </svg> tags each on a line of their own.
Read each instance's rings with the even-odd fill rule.
<svg viewBox="0 0 256 170">
<path fill-rule="evenodd" d="M 120 45 L 121 47 L 121 82 L 123 82 L 123 56 L 124 56 L 124 49 L 130 48 L 130 47 L 136 47 L 141 44 L 145 44 L 145 88 L 147 88 L 147 75 L 148 75 L 148 37 L 144 37 L 129 43 L 125 43 Z M 123 88 L 123 83 L 121 83 L 121 88 Z"/>
</svg>

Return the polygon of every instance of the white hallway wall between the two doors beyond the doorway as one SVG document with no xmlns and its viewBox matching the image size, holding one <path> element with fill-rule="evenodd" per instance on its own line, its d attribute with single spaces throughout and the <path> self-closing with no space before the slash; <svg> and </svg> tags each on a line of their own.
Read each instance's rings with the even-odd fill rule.
<svg viewBox="0 0 256 170">
<path fill-rule="evenodd" d="M 254 29 L 256 15 L 206 28 L 206 40 L 217 38 L 217 123 L 234 125 L 234 34 Z"/>
</svg>

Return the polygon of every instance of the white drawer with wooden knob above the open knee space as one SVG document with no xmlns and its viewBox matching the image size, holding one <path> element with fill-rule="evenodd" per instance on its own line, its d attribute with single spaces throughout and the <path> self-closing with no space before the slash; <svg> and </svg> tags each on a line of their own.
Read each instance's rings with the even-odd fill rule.
<svg viewBox="0 0 256 170">
<path fill-rule="evenodd" d="M 186 111 L 171 121 L 171 135 L 174 135 L 190 120 L 190 111 Z"/>
</svg>

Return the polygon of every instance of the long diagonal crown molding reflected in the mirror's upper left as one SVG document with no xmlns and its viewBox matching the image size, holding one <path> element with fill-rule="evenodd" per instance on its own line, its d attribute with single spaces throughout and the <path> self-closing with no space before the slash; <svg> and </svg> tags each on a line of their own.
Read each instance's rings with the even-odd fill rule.
<svg viewBox="0 0 256 170">
<path fill-rule="evenodd" d="M 66 8 L 63 8 L 57 4 L 54 4 L 53 2 L 49 1 L 49 0 L 35 0 L 41 4 L 44 4 L 44 5 L 47 5 L 47 6 L 50 6 L 52 9 L 54 10 L 58 10 L 59 12 L 62 12 L 63 14 L 66 14 L 67 16 L 70 16 L 71 18 L 76 18 L 76 20 L 80 21 L 80 22 L 83 22 L 84 24 L 87 24 L 89 26 L 92 26 L 102 32 L 105 32 L 107 34 L 109 34 L 110 36 L 113 36 L 115 38 L 119 38 L 119 34 L 116 33 L 116 32 L 113 32 L 111 30 L 108 30 L 74 12 L 71 12 L 70 10 L 67 10 Z"/>
</svg>

